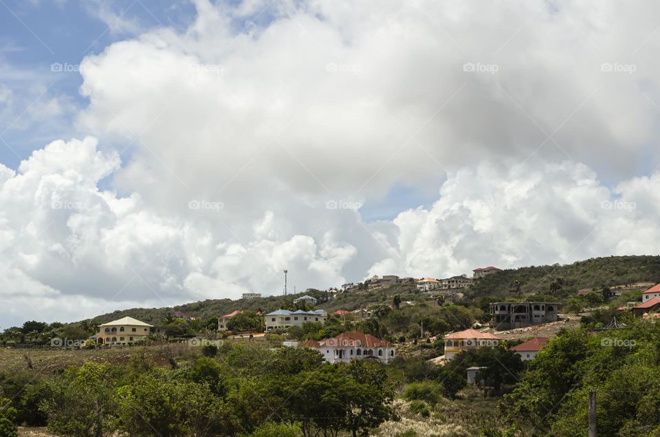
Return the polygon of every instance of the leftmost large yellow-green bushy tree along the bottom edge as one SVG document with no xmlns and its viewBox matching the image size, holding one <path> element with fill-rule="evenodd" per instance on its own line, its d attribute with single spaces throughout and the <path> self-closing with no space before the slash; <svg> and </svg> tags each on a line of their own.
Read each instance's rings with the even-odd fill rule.
<svg viewBox="0 0 660 437">
<path fill-rule="evenodd" d="M 48 416 L 50 430 L 75 437 L 111 434 L 117 399 L 109 363 L 87 361 L 48 385 L 50 397 L 41 407 Z"/>
</svg>

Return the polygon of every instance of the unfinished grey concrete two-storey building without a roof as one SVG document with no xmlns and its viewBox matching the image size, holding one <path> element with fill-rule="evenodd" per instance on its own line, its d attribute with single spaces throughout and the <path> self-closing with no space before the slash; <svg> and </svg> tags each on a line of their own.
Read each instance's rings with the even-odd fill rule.
<svg viewBox="0 0 660 437">
<path fill-rule="evenodd" d="M 491 328 L 525 328 L 559 320 L 556 302 L 493 302 L 490 304 Z"/>
</svg>

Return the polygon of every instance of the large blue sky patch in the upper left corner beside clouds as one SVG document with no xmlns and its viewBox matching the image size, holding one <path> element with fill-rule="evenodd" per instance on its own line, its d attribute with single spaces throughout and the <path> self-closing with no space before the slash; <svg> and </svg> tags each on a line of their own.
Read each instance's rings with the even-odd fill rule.
<svg viewBox="0 0 660 437">
<path fill-rule="evenodd" d="M 76 110 L 87 104 L 77 71 L 85 56 L 150 27 L 183 29 L 194 14 L 191 3 L 169 0 L 0 0 L 0 83 L 14 100 L 0 101 L 0 162 L 17 168 L 54 139 L 85 135 L 75 128 Z M 30 111 L 52 98 L 66 110 L 47 122 L 31 120 Z"/>
</svg>

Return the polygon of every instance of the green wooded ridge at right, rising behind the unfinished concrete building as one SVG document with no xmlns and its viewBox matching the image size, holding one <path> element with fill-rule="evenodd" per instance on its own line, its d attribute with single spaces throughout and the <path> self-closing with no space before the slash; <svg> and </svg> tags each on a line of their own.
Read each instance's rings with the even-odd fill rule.
<svg viewBox="0 0 660 437">
<path fill-rule="evenodd" d="M 474 295 L 507 295 L 520 282 L 520 293 L 550 293 L 550 284 L 564 278 L 562 289 L 601 289 L 636 282 L 660 282 L 660 256 L 609 256 L 569 265 L 546 265 L 507 269 L 474 281 Z"/>
</svg>

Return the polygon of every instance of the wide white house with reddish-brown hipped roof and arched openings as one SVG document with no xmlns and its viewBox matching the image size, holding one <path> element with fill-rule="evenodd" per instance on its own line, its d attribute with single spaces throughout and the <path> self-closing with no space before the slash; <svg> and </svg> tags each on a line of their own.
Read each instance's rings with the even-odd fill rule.
<svg viewBox="0 0 660 437">
<path fill-rule="evenodd" d="M 394 345 L 389 341 L 358 331 L 321 341 L 307 340 L 301 346 L 317 349 L 329 363 L 348 363 L 354 359 L 388 363 L 396 356 Z"/>
</svg>

